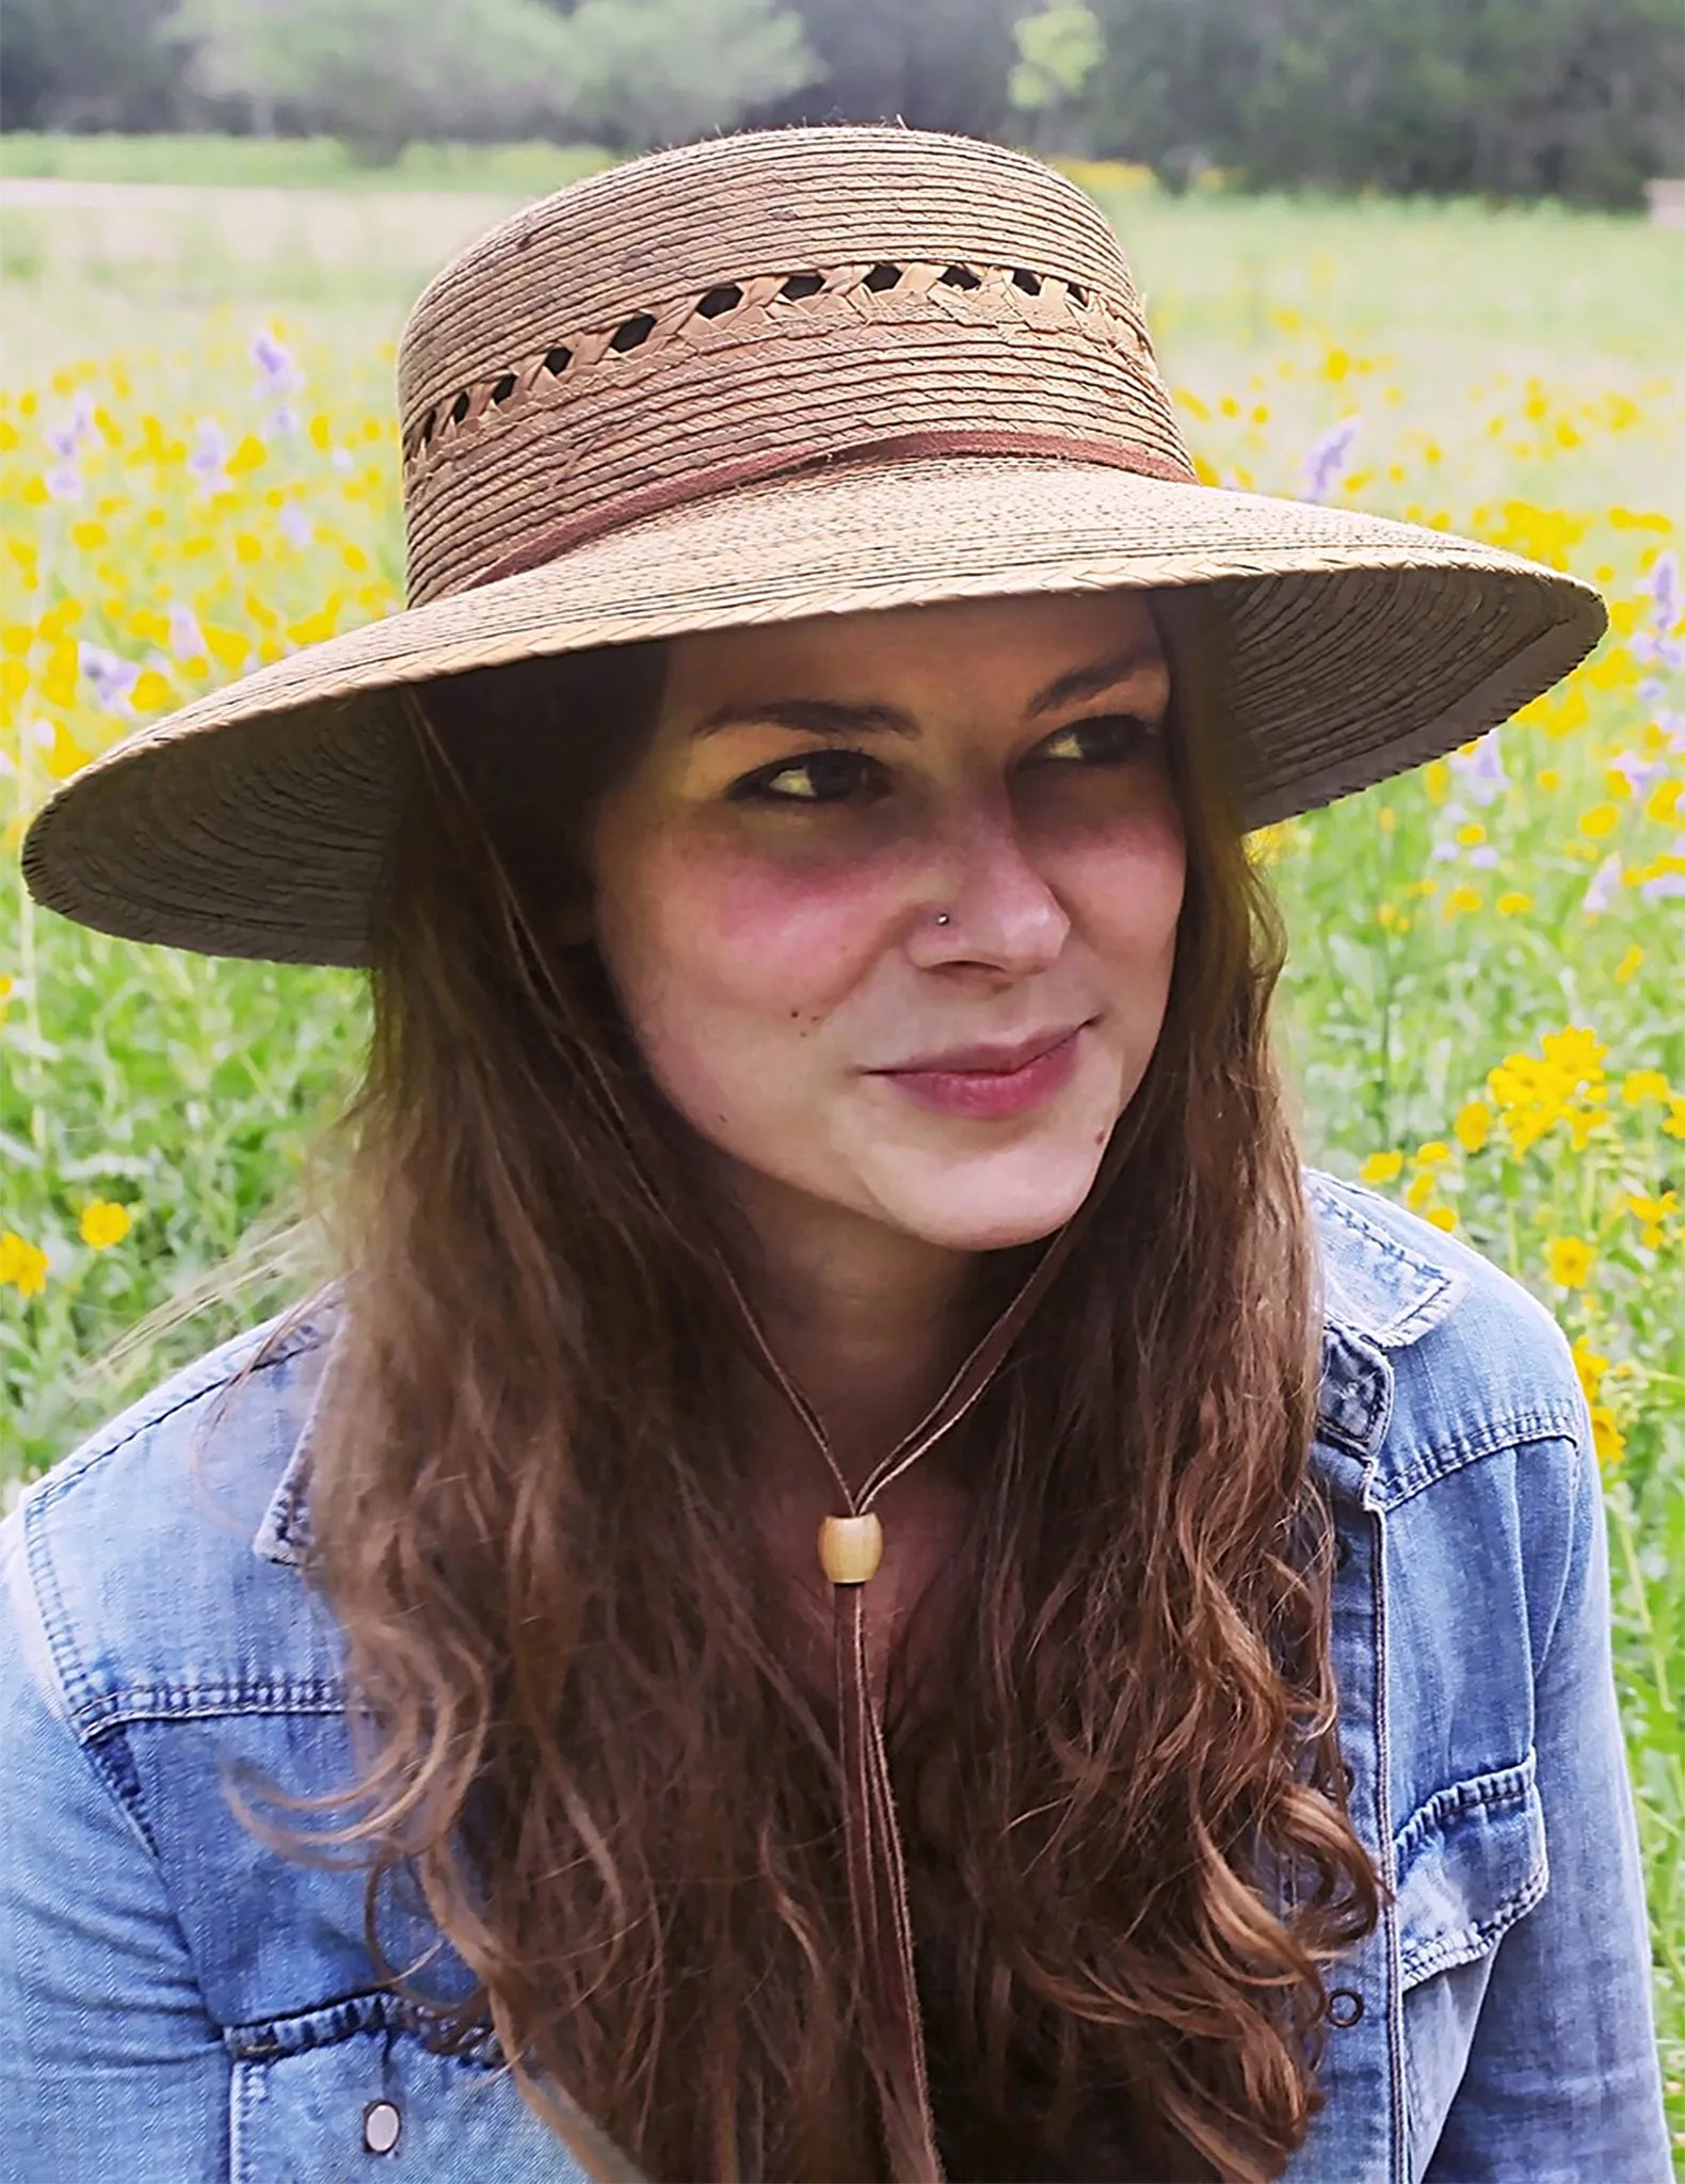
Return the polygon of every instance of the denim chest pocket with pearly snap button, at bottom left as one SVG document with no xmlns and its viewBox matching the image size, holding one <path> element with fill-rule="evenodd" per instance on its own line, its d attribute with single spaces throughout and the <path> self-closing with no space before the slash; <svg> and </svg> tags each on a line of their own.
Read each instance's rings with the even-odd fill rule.
<svg viewBox="0 0 1685 2184">
<path fill-rule="evenodd" d="M 378 2007 L 378 1998 L 363 1998 Z M 234 2038 L 232 2184 L 594 2184 L 507 2070 L 356 2025 L 358 2001 Z"/>
</svg>

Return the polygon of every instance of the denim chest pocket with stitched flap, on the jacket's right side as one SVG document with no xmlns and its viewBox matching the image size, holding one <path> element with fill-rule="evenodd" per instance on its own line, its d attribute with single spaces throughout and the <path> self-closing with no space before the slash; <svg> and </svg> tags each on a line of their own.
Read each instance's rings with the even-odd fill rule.
<svg viewBox="0 0 1685 2184">
<path fill-rule="evenodd" d="M 1536 1756 L 1436 1791 L 1397 1837 L 1410 2173 L 1469 2060 L 1497 1944 L 1550 1885 Z"/>
</svg>

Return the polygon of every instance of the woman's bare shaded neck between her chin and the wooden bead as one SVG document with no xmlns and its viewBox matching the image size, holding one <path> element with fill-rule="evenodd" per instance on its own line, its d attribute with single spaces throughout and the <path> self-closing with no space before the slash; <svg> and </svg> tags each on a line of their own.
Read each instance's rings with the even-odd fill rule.
<svg viewBox="0 0 1685 2184">
<path fill-rule="evenodd" d="M 743 1293 L 771 1354 L 820 1413 L 850 1483 L 931 1409 L 979 1332 L 975 1254 L 948 1251 L 765 1175 L 732 1179 L 754 1238 Z M 804 1439 L 756 1380 L 752 1415 L 769 1450 Z"/>
</svg>

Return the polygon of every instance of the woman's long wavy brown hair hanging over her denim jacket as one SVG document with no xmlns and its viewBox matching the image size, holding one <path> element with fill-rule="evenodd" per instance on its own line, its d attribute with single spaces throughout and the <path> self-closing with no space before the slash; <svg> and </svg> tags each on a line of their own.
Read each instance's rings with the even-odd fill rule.
<svg viewBox="0 0 1685 2184">
<path fill-rule="evenodd" d="M 1167 1018 L 973 1413 L 942 1704 L 892 1688 L 962 2177 L 1281 2175 L 1322 2101 L 1322 1966 L 1383 1891 L 1329 1669 L 1283 939 L 1215 625 L 1152 605 L 1189 852 Z M 334 1841 L 376 1948 L 420 1885 L 476 1985 L 382 1972 L 444 2040 L 490 2025 L 564 2136 L 570 2097 L 658 2180 L 868 2180 L 833 1725 L 743 1522 L 730 1208 L 581 937 L 579 821 L 662 673 L 623 646 L 411 701 L 310 1487 L 363 1723 Z"/>
</svg>

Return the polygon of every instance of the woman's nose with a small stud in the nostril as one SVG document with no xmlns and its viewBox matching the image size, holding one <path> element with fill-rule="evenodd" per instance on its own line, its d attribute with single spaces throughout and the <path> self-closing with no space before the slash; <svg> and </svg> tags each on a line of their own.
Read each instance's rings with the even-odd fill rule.
<svg viewBox="0 0 1685 2184">
<path fill-rule="evenodd" d="M 938 924 L 942 913 L 946 922 Z M 1012 799 L 977 797 L 951 812 L 911 915 L 914 963 L 975 963 L 1025 978 L 1058 961 L 1069 933 L 1071 919 L 1029 854 Z"/>
</svg>

